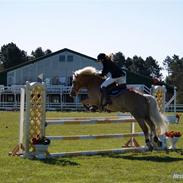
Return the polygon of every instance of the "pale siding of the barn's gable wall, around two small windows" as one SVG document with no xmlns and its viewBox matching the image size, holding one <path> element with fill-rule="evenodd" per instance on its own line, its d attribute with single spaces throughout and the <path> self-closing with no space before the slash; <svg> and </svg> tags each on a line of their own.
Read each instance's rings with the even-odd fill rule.
<svg viewBox="0 0 183 183">
<path fill-rule="evenodd" d="M 60 56 L 65 55 L 65 61 L 60 61 Z M 73 61 L 68 61 L 67 56 L 73 56 Z M 43 58 L 34 63 L 16 68 L 7 73 L 7 84 L 25 84 L 26 81 L 37 81 L 39 75 L 43 74 L 43 80 L 50 78 L 71 77 L 72 72 L 86 66 L 94 66 L 101 69 L 101 64 L 95 63 L 93 59 L 83 57 L 70 51 L 64 51 Z"/>
</svg>

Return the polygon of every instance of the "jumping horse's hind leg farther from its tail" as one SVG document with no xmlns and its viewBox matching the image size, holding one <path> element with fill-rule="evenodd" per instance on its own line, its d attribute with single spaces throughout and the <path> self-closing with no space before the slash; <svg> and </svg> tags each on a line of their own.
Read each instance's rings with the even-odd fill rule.
<svg viewBox="0 0 183 183">
<path fill-rule="evenodd" d="M 149 129 L 145 123 L 144 119 L 140 119 L 134 116 L 134 118 L 137 120 L 139 126 L 141 127 L 142 131 L 144 132 L 144 136 L 145 136 L 145 143 L 147 145 L 147 147 L 149 148 L 150 151 L 153 150 L 153 145 L 149 139 Z"/>
</svg>

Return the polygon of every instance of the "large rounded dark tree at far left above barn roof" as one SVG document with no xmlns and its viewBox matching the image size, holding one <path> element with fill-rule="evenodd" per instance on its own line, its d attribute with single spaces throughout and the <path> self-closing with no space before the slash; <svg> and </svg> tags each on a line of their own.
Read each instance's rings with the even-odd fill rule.
<svg viewBox="0 0 183 183">
<path fill-rule="evenodd" d="M 1 47 L 0 60 L 4 68 L 10 68 L 26 62 L 28 59 L 24 50 L 20 50 L 14 43 L 8 43 Z"/>
</svg>

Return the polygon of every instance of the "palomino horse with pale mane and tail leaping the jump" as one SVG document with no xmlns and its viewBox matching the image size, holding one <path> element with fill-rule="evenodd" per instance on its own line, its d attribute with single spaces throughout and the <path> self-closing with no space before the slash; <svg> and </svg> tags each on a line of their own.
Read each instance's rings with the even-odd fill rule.
<svg viewBox="0 0 183 183">
<path fill-rule="evenodd" d="M 100 85 L 103 78 L 97 75 L 93 67 L 85 67 L 73 74 L 71 96 L 76 96 L 79 90 L 88 90 L 88 98 L 81 101 L 84 105 L 100 105 Z M 117 96 L 111 97 L 112 104 L 105 108 L 110 111 L 130 112 L 144 132 L 145 142 L 150 150 L 153 149 L 153 141 L 160 147 L 162 142 L 158 136 L 166 132 L 168 123 L 158 110 L 156 99 L 147 94 L 134 90 L 125 90 Z M 151 136 L 148 126 L 151 130 Z"/>
</svg>

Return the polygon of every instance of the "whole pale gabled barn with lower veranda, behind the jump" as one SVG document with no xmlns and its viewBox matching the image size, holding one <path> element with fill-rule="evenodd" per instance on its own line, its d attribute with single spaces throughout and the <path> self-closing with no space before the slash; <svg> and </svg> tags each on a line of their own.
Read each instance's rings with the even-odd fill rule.
<svg viewBox="0 0 183 183">
<path fill-rule="evenodd" d="M 86 66 L 100 70 L 102 65 L 95 61 L 95 58 L 64 48 L 12 67 L 0 73 L 0 108 L 19 107 L 20 88 L 26 81 L 45 82 L 48 109 L 77 108 L 80 106 L 80 98 L 84 97 L 85 93 L 76 99 L 69 96 L 72 73 Z"/>
</svg>

